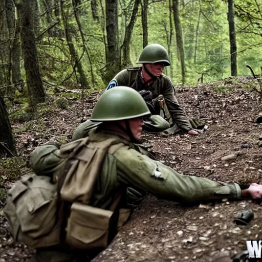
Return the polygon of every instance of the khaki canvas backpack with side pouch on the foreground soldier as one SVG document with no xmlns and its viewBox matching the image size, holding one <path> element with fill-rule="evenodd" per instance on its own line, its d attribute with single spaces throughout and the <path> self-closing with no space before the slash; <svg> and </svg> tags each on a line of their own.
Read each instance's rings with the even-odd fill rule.
<svg viewBox="0 0 262 262">
<path fill-rule="evenodd" d="M 90 143 L 89 138 L 79 139 L 60 149 L 68 157 L 55 174 L 58 182 L 32 172 L 21 177 L 8 191 L 4 208 L 14 240 L 32 248 L 63 242 L 75 248 L 106 247 L 112 239 L 113 220 L 114 227 L 117 226 L 115 210 L 120 198 L 111 210 L 94 208 L 89 203 L 107 151 L 113 154 L 123 145 L 115 137 L 95 143 Z M 70 212 L 65 212 L 65 205 Z M 82 224 L 89 223 L 85 220 L 90 220 L 90 227 L 83 227 Z"/>
</svg>

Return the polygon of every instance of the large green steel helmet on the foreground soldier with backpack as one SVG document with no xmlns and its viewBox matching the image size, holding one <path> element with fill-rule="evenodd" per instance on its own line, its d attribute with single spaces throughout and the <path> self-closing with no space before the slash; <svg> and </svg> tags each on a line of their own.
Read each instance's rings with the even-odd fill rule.
<svg viewBox="0 0 262 262">
<path fill-rule="evenodd" d="M 98 99 L 91 121 L 118 121 L 150 115 L 142 96 L 127 86 L 116 86 L 104 92 Z"/>
</svg>

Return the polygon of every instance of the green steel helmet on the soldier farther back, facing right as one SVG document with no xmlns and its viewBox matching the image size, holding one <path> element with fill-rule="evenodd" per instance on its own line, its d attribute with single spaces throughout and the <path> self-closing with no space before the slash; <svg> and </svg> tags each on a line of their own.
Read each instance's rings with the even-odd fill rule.
<svg viewBox="0 0 262 262">
<path fill-rule="evenodd" d="M 137 63 L 157 63 L 163 62 L 164 66 L 170 65 L 169 55 L 166 49 L 159 43 L 151 43 L 146 46 L 140 54 Z"/>
</svg>

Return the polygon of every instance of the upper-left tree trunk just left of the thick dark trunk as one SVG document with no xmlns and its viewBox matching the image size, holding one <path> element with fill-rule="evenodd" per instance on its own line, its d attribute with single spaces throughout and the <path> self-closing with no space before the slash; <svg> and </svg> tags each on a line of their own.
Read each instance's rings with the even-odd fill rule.
<svg viewBox="0 0 262 262">
<path fill-rule="evenodd" d="M 12 72 L 12 86 L 7 91 L 8 97 L 12 100 L 14 98 L 15 87 L 21 83 L 21 68 L 20 68 L 20 44 L 19 44 L 19 26 L 15 18 L 15 5 L 13 1 L 6 0 L 6 17 L 9 32 L 9 46 L 11 72 Z"/>
</svg>

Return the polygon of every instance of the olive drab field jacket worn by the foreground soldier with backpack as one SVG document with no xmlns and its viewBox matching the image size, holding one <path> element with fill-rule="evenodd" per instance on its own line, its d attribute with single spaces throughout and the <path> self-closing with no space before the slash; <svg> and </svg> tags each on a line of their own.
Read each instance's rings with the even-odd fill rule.
<svg viewBox="0 0 262 262">
<path fill-rule="evenodd" d="M 89 134 L 91 144 L 113 137 L 118 137 L 118 133 L 92 130 Z M 181 203 L 241 198 L 241 188 L 236 183 L 219 183 L 206 178 L 183 176 L 163 163 L 141 154 L 128 143 L 125 141 L 114 154 L 110 151 L 106 153 L 93 190 L 93 206 L 108 209 L 119 187 L 133 187 L 162 199 Z M 38 154 L 32 167 L 39 169 L 41 166 L 43 172 L 48 172 L 50 169 L 45 163 L 50 163 L 50 159 L 54 157 L 58 158 L 57 151 L 58 149 L 48 155 L 43 154 L 44 157 Z"/>
</svg>

